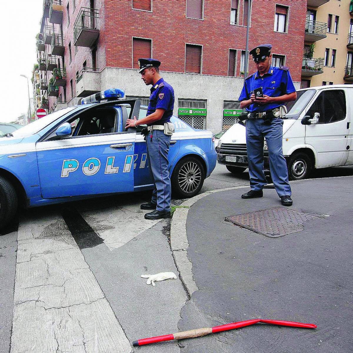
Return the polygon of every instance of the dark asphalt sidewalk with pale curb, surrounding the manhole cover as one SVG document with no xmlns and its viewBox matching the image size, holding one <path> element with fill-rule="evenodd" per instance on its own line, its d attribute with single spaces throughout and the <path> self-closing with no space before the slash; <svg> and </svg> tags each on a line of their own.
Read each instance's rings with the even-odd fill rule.
<svg viewBox="0 0 353 353">
<path fill-rule="evenodd" d="M 196 196 L 184 203 L 190 208 L 173 216 L 173 255 L 192 294 L 179 329 L 252 318 L 318 328 L 250 326 L 180 341 L 181 352 L 352 352 L 353 177 L 293 183 L 294 205 L 288 209 L 315 217 L 277 238 L 225 222 L 228 216 L 284 207 L 274 189 L 265 189 L 260 199 L 241 199 L 248 189 Z"/>
</svg>

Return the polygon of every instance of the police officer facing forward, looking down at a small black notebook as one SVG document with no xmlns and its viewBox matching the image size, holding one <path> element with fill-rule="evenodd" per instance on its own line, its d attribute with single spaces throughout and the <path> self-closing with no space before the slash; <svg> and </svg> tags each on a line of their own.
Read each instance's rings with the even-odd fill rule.
<svg viewBox="0 0 353 353">
<path fill-rule="evenodd" d="M 241 195 L 243 199 L 262 197 L 267 184 L 263 170 L 264 138 L 267 142 L 270 171 L 277 194 L 284 206 L 291 206 L 292 191 L 288 183 L 288 170 L 282 152 L 283 120 L 279 107 L 297 99 L 297 93 L 288 67 L 270 65 L 270 44 L 260 45 L 252 51 L 257 71 L 247 77 L 241 91 L 240 107 L 246 108 L 246 148 L 249 160 L 250 191 Z M 262 88 L 263 97 L 255 92 Z M 260 92 L 261 95 L 261 92 Z"/>
</svg>

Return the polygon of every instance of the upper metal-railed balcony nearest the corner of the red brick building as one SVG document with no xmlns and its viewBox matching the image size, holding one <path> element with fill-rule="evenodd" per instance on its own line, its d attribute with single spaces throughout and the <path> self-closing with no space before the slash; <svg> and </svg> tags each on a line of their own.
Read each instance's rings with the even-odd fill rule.
<svg viewBox="0 0 353 353">
<path fill-rule="evenodd" d="M 98 10 L 81 7 L 73 26 L 74 44 L 79 47 L 91 48 L 98 39 Z"/>
</svg>

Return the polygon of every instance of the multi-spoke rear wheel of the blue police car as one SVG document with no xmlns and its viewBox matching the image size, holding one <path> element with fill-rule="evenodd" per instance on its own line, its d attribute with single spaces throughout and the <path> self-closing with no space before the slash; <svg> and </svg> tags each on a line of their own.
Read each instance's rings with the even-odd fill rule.
<svg viewBox="0 0 353 353">
<path fill-rule="evenodd" d="M 190 198 L 199 193 L 205 180 L 205 171 L 201 162 L 195 157 L 180 160 L 174 168 L 171 184 L 175 194 Z"/>
</svg>

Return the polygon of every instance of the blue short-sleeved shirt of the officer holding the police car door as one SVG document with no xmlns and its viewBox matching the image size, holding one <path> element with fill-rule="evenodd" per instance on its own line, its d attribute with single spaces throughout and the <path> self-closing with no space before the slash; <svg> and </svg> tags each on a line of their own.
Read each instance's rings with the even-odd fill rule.
<svg viewBox="0 0 353 353">
<path fill-rule="evenodd" d="M 169 83 L 164 81 L 163 78 L 158 80 L 151 88 L 147 115 L 154 113 L 158 108 L 165 110 L 161 120 L 147 125 L 163 125 L 164 123 L 170 122 L 170 118 L 173 115 L 174 89 Z"/>
</svg>

